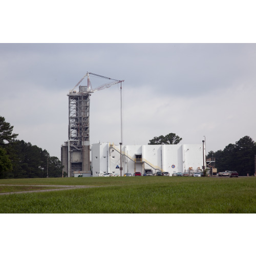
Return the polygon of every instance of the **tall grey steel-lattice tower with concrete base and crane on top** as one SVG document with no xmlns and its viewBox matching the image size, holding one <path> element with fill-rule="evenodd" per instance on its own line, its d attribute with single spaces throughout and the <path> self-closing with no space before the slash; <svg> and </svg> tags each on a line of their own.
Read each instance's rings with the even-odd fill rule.
<svg viewBox="0 0 256 256">
<path fill-rule="evenodd" d="M 102 84 L 92 89 L 89 75 L 110 79 L 111 82 Z M 80 86 L 81 81 L 87 77 L 87 86 Z M 61 163 L 63 172 L 68 177 L 90 177 L 90 96 L 93 92 L 109 88 L 124 80 L 116 80 L 109 77 L 87 72 L 85 76 L 69 92 L 69 140 L 61 146 Z M 78 92 L 75 88 L 79 86 Z"/>
</svg>

